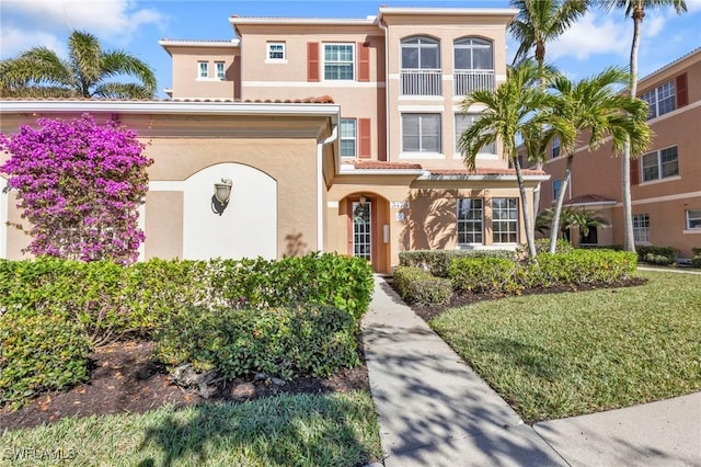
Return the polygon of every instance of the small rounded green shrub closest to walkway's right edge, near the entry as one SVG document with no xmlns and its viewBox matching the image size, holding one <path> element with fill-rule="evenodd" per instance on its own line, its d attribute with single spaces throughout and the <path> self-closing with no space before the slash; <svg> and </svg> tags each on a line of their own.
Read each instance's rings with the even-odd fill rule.
<svg viewBox="0 0 701 467">
<path fill-rule="evenodd" d="M 446 305 L 452 296 L 452 284 L 421 267 L 398 266 L 392 283 L 407 304 Z"/>
</svg>

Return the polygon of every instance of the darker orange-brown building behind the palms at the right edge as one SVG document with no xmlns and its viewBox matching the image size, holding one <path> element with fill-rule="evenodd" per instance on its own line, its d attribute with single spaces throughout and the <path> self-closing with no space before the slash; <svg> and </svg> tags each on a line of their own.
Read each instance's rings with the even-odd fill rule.
<svg viewBox="0 0 701 467">
<path fill-rule="evenodd" d="M 650 105 L 654 138 L 631 160 L 635 244 L 675 247 L 691 258 L 701 247 L 701 48 L 641 79 L 637 89 Z M 541 210 L 553 205 L 565 168 L 558 144 L 547 156 L 551 180 L 541 185 Z M 579 148 L 565 204 L 596 210 L 611 224 L 585 243 L 623 243 L 621 192 L 621 160 L 610 143 L 591 152 Z"/>
</svg>

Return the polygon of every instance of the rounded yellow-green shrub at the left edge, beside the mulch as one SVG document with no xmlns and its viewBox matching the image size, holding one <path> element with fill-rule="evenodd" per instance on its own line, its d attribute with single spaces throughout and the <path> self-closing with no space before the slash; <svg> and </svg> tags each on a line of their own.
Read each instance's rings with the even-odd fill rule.
<svg viewBox="0 0 701 467">
<path fill-rule="evenodd" d="M 90 344 L 66 312 L 11 307 L 0 314 L 0 406 L 88 379 Z"/>
</svg>

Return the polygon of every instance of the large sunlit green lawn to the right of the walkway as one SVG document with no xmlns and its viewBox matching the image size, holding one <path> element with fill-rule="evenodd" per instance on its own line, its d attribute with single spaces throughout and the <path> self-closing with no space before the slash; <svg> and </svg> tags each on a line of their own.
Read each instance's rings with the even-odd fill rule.
<svg viewBox="0 0 701 467">
<path fill-rule="evenodd" d="M 701 390 L 701 275 L 487 300 L 432 327 L 527 422 Z"/>
</svg>

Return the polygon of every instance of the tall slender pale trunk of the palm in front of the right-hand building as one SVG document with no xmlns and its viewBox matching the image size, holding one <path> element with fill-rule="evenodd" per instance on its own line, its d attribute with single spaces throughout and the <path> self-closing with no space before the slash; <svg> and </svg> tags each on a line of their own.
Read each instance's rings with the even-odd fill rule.
<svg viewBox="0 0 701 467">
<path fill-rule="evenodd" d="M 633 10 L 633 44 L 631 46 L 631 95 L 637 94 L 637 45 L 640 43 L 640 26 L 645 16 L 642 1 L 639 1 Z M 621 185 L 623 189 L 623 248 L 625 251 L 635 252 L 633 239 L 633 207 L 631 200 L 631 145 L 627 138 L 621 159 Z"/>
</svg>

